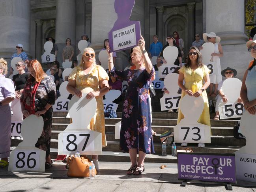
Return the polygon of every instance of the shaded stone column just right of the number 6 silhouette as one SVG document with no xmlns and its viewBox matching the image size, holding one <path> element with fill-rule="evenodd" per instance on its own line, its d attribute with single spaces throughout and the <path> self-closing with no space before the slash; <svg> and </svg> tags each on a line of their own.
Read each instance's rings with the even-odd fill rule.
<svg viewBox="0 0 256 192">
<path fill-rule="evenodd" d="M 76 50 L 76 0 L 56 1 L 56 44 L 58 46 L 57 60 L 62 63 L 62 50 L 65 40 L 71 39 L 71 45 Z M 74 57 L 76 58 L 76 53 Z"/>
</svg>

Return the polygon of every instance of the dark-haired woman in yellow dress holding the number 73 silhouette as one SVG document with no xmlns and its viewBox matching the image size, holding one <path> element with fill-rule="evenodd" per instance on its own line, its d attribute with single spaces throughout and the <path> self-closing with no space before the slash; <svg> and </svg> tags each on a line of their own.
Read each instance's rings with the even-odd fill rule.
<svg viewBox="0 0 256 192">
<path fill-rule="evenodd" d="M 182 89 L 181 98 L 186 94 L 194 97 L 199 97 L 202 95 L 204 99 L 204 110 L 198 119 L 198 123 L 202 123 L 211 127 L 210 114 L 209 114 L 209 104 L 207 93 L 205 89 L 210 85 L 209 73 L 211 71 L 203 65 L 202 54 L 196 47 L 191 47 L 189 50 L 188 62 L 181 69 L 179 69 L 179 79 L 178 85 Z M 185 84 L 183 85 L 183 80 Z M 204 80 L 204 83 L 203 83 Z M 179 110 L 178 121 L 180 122 L 184 116 Z M 181 146 L 187 146 L 187 143 L 182 143 Z M 198 147 L 204 147 L 203 143 L 199 143 Z"/>
</svg>

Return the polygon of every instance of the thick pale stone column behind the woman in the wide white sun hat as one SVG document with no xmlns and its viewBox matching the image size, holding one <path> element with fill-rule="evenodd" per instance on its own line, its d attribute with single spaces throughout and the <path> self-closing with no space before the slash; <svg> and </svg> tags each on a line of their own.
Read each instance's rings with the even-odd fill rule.
<svg viewBox="0 0 256 192">
<path fill-rule="evenodd" d="M 206 2 L 206 32 L 215 32 L 222 45 L 244 44 L 245 2 L 243 0 L 211 0 Z"/>
</svg>

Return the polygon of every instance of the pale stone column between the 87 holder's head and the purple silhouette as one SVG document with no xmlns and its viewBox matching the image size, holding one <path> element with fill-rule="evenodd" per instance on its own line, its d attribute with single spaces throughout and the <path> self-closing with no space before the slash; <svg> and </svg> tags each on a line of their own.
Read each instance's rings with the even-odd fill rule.
<svg viewBox="0 0 256 192">
<path fill-rule="evenodd" d="M 115 0 L 92 1 L 92 47 L 95 51 L 103 48 L 104 39 L 114 26 L 117 14 L 114 9 Z"/>
</svg>

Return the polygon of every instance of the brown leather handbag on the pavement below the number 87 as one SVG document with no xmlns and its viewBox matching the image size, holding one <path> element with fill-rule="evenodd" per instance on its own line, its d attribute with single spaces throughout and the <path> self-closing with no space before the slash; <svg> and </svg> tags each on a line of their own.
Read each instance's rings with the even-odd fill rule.
<svg viewBox="0 0 256 192">
<path fill-rule="evenodd" d="M 69 170 L 67 171 L 68 177 L 90 177 L 89 167 L 92 164 L 88 158 L 84 157 L 69 157 L 67 158 Z M 95 175 L 97 174 L 96 169 Z"/>
</svg>

